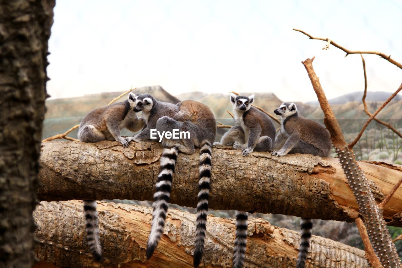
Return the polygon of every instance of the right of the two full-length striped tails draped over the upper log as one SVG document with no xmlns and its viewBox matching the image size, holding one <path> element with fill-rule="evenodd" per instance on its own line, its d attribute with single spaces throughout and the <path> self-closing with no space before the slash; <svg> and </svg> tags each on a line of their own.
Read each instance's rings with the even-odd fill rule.
<svg viewBox="0 0 402 268">
<path fill-rule="evenodd" d="M 211 185 L 211 154 L 212 145 L 204 140 L 200 145 L 199 181 L 198 181 L 198 204 L 197 220 L 195 221 L 195 245 L 194 245 L 194 267 L 198 267 L 204 252 L 205 225 L 207 223 L 208 198 Z"/>
</svg>

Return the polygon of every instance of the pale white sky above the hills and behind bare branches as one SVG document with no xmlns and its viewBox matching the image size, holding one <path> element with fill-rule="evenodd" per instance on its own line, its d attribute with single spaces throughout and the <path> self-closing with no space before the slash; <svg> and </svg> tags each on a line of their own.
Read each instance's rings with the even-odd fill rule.
<svg viewBox="0 0 402 268">
<path fill-rule="evenodd" d="M 292 28 L 402 62 L 398 0 L 58 0 L 54 12 L 52 98 L 161 85 L 172 95 L 273 92 L 283 101 L 312 101 L 301 64 L 312 56 L 328 98 L 363 92 L 358 54 L 322 50 L 324 41 Z M 398 89 L 402 70 L 379 56 L 365 60 L 369 91 Z"/>
</svg>

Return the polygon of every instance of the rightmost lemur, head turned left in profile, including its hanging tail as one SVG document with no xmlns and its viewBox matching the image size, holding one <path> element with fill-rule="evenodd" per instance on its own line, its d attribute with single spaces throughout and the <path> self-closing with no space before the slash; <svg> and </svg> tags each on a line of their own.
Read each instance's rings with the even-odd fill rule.
<svg viewBox="0 0 402 268">
<path fill-rule="evenodd" d="M 312 154 L 328 157 L 331 151 L 331 137 L 328 130 L 314 120 L 298 116 L 294 103 L 282 103 L 274 111 L 282 117 L 281 130 L 277 136 L 277 144 L 286 138 L 286 142 L 279 151 L 273 151 L 274 156 L 283 156 L 288 153 Z M 310 248 L 311 219 L 301 218 L 301 235 L 297 268 L 304 268 Z"/>
</svg>

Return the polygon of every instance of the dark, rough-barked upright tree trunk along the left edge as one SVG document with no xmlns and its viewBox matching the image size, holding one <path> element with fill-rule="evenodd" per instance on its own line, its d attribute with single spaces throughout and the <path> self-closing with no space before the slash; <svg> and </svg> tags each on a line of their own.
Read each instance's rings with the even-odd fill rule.
<svg viewBox="0 0 402 268">
<path fill-rule="evenodd" d="M 0 1 L 0 267 L 31 267 L 52 0 Z"/>
</svg>

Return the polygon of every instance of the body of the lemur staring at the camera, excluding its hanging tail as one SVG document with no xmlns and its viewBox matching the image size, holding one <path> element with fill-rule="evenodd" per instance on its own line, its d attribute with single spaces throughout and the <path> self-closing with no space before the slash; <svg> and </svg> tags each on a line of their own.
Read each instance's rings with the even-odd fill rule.
<svg viewBox="0 0 402 268">
<path fill-rule="evenodd" d="M 233 148 L 242 149 L 244 156 L 252 151 L 271 151 L 275 143 L 275 127 L 268 115 L 251 106 L 254 95 L 232 95 L 230 101 L 236 126 L 222 136 L 220 144 L 233 144 Z"/>
</svg>

